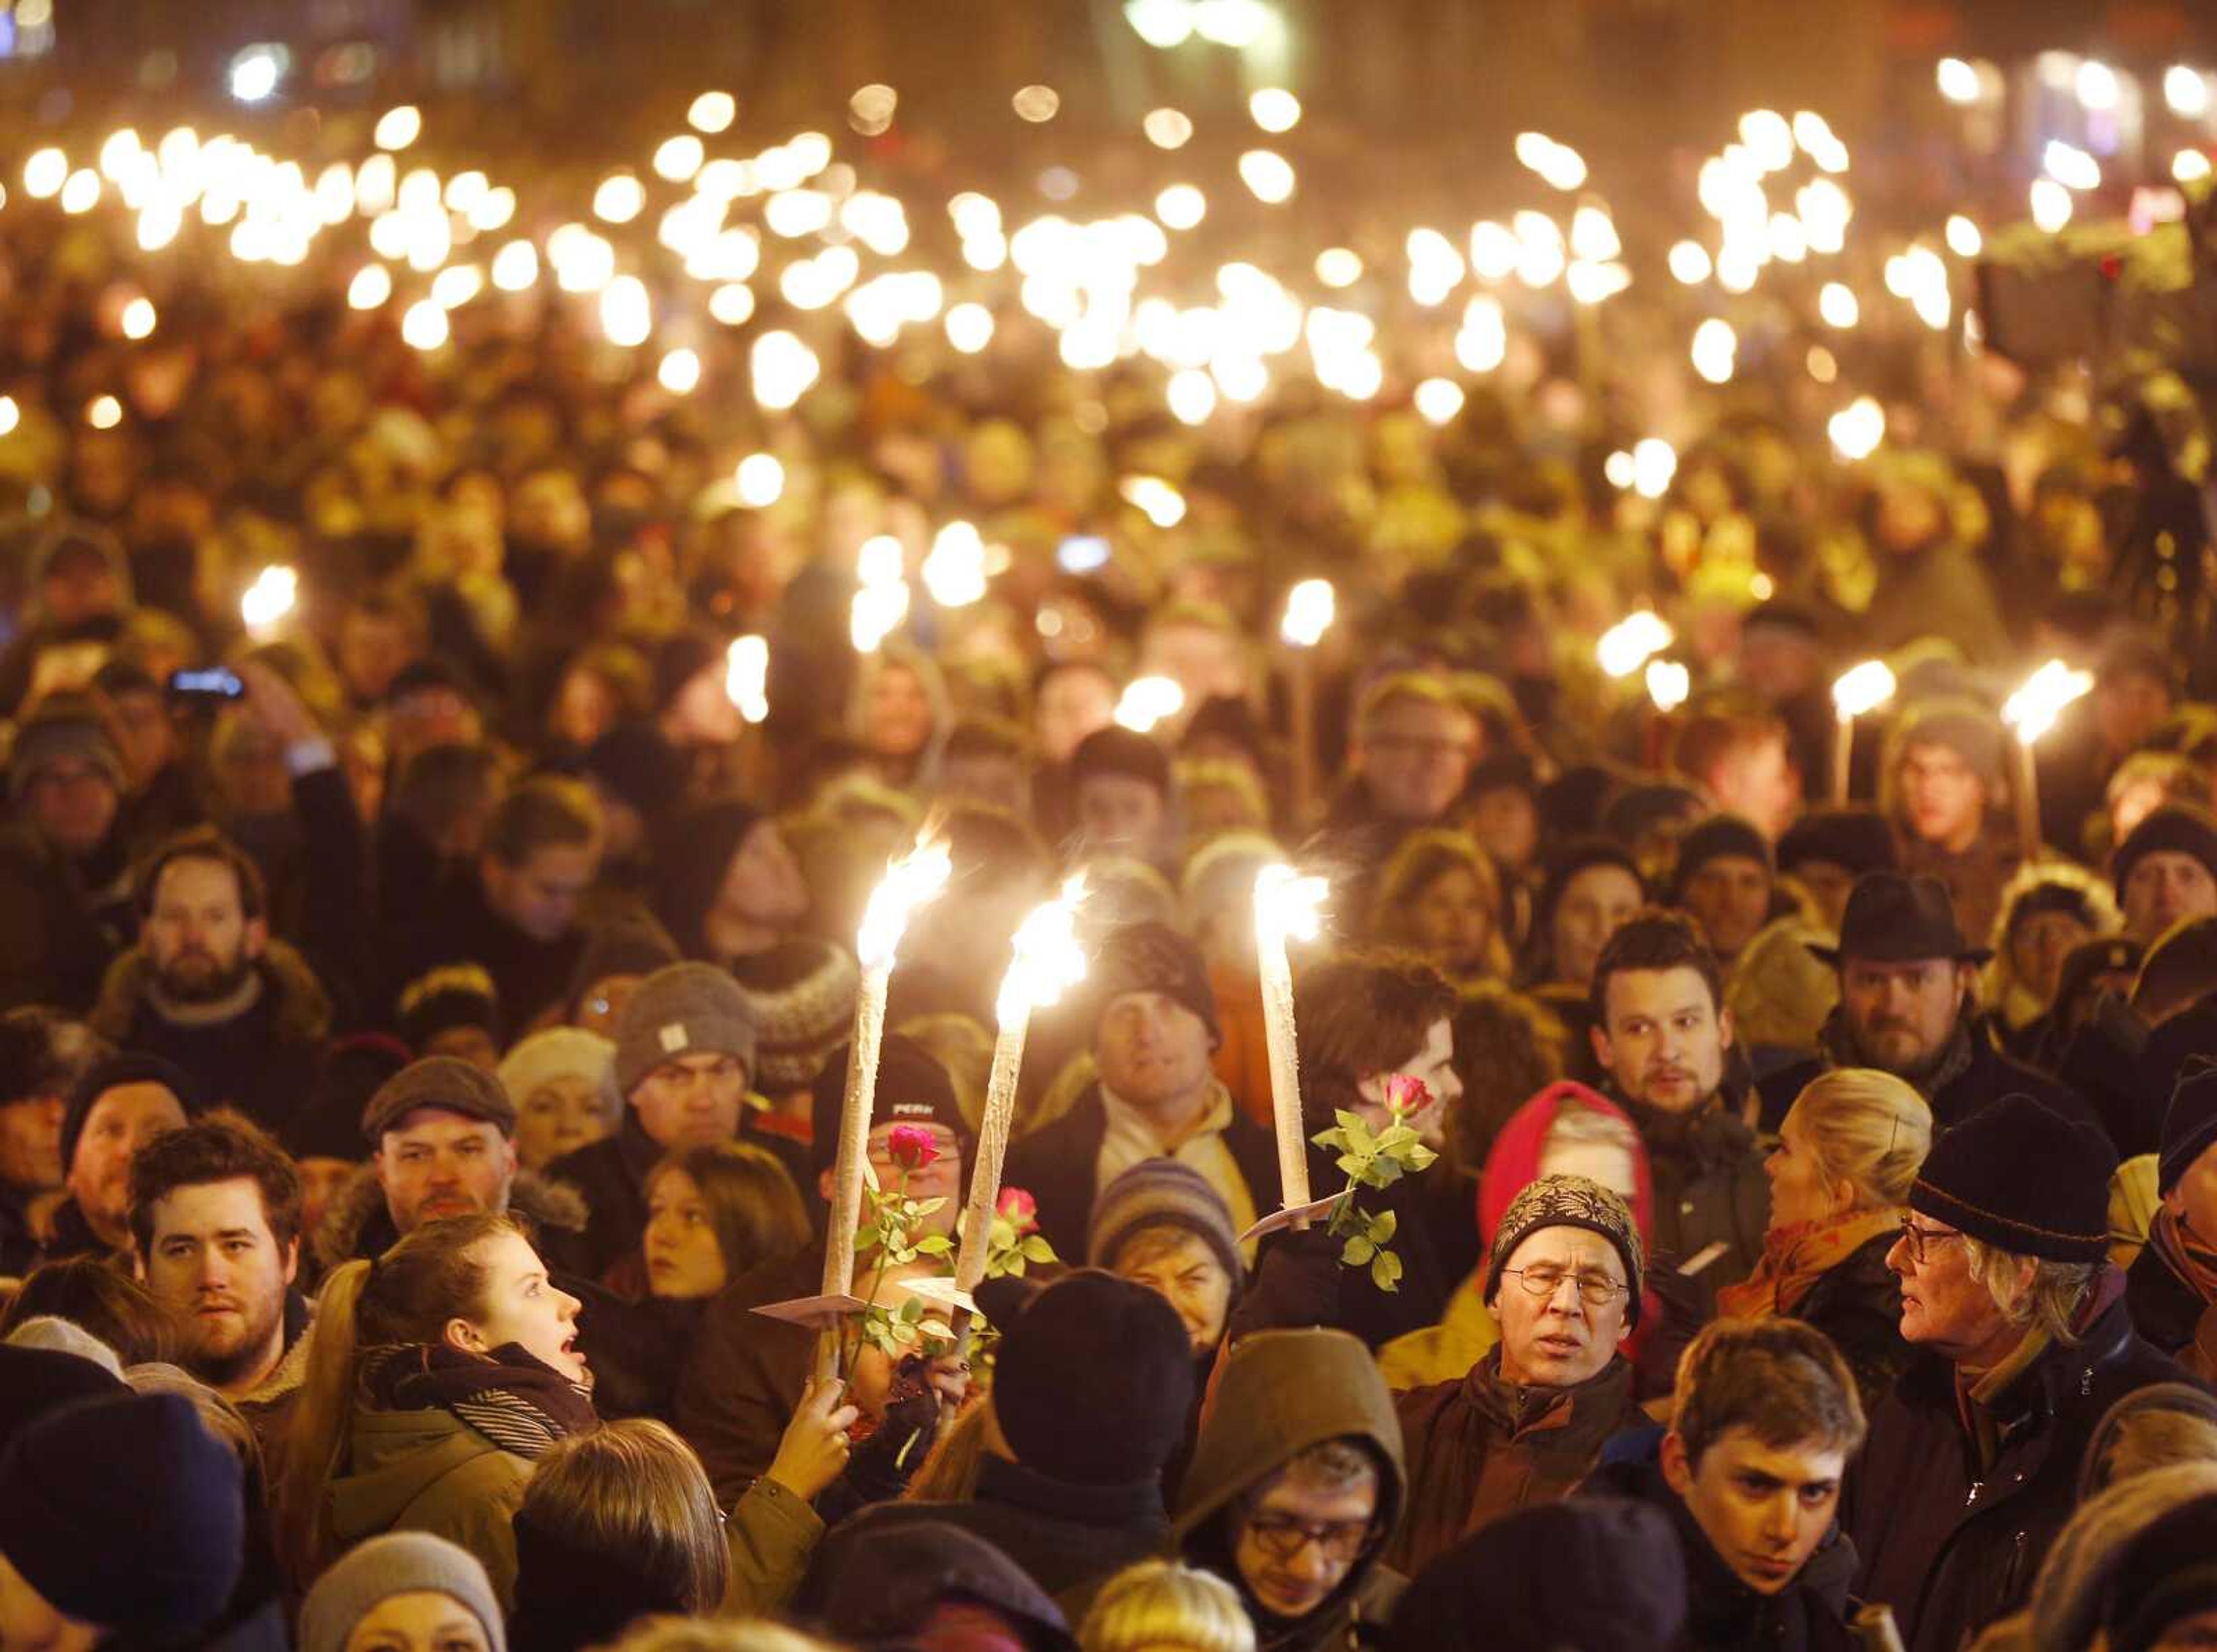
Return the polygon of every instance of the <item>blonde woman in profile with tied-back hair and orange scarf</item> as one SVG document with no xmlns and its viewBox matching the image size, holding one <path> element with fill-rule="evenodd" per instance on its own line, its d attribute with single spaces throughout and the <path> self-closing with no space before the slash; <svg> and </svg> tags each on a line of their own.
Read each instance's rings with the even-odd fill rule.
<svg viewBox="0 0 2217 1652">
<path fill-rule="evenodd" d="M 1814 1080 L 1787 1109 L 1763 1166 L 1771 1180 L 1763 1262 L 1716 1293 L 1716 1311 L 1814 1324 L 1873 1404 L 1909 1362 L 1902 1284 L 1887 1251 L 1931 1142 L 1931 1109 L 1891 1073 L 1840 1067 Z"/>
</svg>

